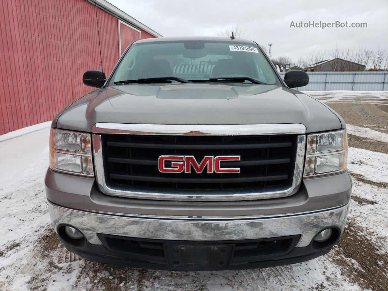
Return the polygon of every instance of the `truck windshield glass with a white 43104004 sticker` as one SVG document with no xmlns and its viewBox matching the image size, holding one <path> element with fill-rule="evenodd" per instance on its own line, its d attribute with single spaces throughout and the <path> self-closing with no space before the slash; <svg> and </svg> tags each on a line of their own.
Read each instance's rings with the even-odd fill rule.
<svg viewBox="0 0 388 291">
<path fill-rule="evenodd" d="M 126 52 L 112 81 L 163 77 L 189 81 L 248 77 L 262 83 L 280 85 L 257 46 L 233 41 L 135 43 Z M 241 81 L 252 83 L 249 80 Z"/>
</svg>

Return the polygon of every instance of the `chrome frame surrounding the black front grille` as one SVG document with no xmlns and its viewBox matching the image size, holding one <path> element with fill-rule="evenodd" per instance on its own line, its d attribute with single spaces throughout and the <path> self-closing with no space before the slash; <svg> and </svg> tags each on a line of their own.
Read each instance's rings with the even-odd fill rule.
<svg viewBox="0 0 388 291">
<path fill-rule="evenodd" d="M 94 165 L 97 185 L 101 192 L 111 196 L 159 199 L 159 200 L 189 200 L 189 201 L 228 201 L 253 200 L 286 197 L 296 193 L 303 175 L 305 159 L 306 127 L 299 123 L 293 124 L 262 124 L 262 125 L 153 125 L 153 124 L 118 124 L 96 123 L 92 128 Z M 292 185 L 274 187 L 270 189 L 247 190 L 190 190 L 166 191 L 166 189 L 127 188 L 106 184 L 104 159 L 102 154 L 101 135 L 103 134 L 130 134 L 130 135 L 279 135 L 294 134 L 297 136 L 297 148 Z"/>
</svg>

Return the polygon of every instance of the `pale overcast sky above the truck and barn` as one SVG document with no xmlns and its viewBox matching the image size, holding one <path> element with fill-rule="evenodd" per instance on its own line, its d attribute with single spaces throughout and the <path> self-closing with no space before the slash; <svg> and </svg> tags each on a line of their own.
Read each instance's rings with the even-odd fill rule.
<svg viewBox="0 0 388 291">
<path fill-rule="evenodd" d="M 237 1 L 108 0 L 163 36 L 218 36 L 227 26 L 246 30 L 248 39 L 272 57 L 299 57 L 315 50 L 378 47 L 388 50 L 388 0 Z M 367 28 L 290 28 L 291 21 L 348 21 Z"/>
</svg>

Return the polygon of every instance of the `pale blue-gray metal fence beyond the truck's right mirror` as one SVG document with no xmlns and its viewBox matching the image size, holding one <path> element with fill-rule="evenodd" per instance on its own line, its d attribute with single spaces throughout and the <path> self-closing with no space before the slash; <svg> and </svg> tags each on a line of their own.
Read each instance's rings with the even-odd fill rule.
<svg viewBox="0 0 388 291">
<path fill-rule="evenodd" d="M 310 78 L 302 91 L 388 91 L 388 72 L 306 72 Z M 283 78 L 284 72 L 280 73 Z"/>
</svg>

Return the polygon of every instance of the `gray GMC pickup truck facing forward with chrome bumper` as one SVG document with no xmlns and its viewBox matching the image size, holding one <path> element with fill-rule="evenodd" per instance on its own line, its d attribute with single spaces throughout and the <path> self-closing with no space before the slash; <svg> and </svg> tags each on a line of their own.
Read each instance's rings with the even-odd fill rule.
<svg viewBox="0 0 388 291">
<path fill-rule="evenodd" d="M 293 264 L 328 253 L 352 180 L 343 119 L 291 88 L 257 43 L 132 43 L 52 121 L 55 232 L 97 262 L 165 270 Z"/>
</svg>

